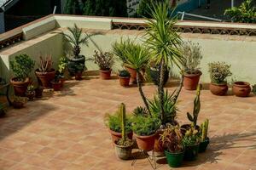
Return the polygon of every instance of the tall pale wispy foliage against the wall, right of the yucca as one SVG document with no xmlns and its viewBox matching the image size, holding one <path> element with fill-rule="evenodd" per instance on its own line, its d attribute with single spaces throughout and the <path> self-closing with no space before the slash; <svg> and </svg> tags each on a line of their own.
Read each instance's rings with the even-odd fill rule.
<svg viewBox="0 0 256 170">
<path fill-rule="evenodd" d="M 184 42 L 181 48 L 183 54 L 183 70 L 187 74 L 196 74 L 200 70 L 202 54 L 199 43 Z"/>
</svg>

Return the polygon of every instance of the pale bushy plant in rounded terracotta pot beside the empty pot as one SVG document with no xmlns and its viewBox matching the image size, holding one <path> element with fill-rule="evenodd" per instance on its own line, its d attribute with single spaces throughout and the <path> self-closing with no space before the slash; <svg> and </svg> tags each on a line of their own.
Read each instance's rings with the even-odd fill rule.
<svg viewBox="0 0 256 170">
<path fill-rule="evenodd" d="M 215 95 L 225 95 L 229 89 L 226 78 L 230 77 L 230 66 L 224 62 L 209 63 L 209 73 L 211 77 L 210 90 Z"/>
</svg>

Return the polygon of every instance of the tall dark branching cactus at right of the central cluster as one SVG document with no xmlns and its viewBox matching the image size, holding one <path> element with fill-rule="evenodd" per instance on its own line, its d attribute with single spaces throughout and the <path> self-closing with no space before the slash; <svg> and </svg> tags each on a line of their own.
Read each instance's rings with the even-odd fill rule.
<svg viewBox="0 0 256 170">
<path fill-rule="evenodd" d="M 194 100 L 193 116 L 189 112 L 187 113 L 189 121 L 193 122 L 195 126 L 196 126 L 197 117 L 199 115 L 200 108 L 201 108 L 201 102 L 200 102 L 201 89 L 200 88 L 201 88 L 200 84 L 198 84 L 197 88 L 196 88 L 196 97 L 195 97 L 195 100 Z"/>
</svg>

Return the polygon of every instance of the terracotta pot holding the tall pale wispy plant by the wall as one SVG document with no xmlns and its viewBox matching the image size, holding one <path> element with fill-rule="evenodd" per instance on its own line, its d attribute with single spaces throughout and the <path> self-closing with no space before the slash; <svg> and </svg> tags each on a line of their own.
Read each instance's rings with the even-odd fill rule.
<svg viewBox="0 0 256 170">
<path fill-rule="evenodd" d="M 186 90 L 195 90 L 198 85 L 200 77 L 201 77 L 201 71 L 198 71 L 197 74 L 185 73 L 184 82 L 183 82 L 184 88 Z"/>
</svg>

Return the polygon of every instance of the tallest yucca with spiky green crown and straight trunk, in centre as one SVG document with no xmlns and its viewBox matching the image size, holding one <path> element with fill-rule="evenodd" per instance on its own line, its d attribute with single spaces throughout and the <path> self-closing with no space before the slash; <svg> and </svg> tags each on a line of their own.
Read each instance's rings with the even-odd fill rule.
<svg viewBox="0 0 256 170">
<path fill-rule="evenodd" d="M 158 3 L 151 10 L 151 18 L 148 19 L 148 30 L 146 31 L 146 43 L 152 51 L 152 60 L 160 65 L 160 83 L 158 93 L 160 98 L 160 118 L 162 124 L 166 122 L 164 111 L 164 70 L 165 66 L 177 65 L 180 68 L 182 54 L 179 46 L 182 43 L 181 37 L 177 34 L 174 27 L 176 20 L 169 18 L 169 4 Z M 182 85 L 183 82 L 181 82 Z"/>
</svg>

